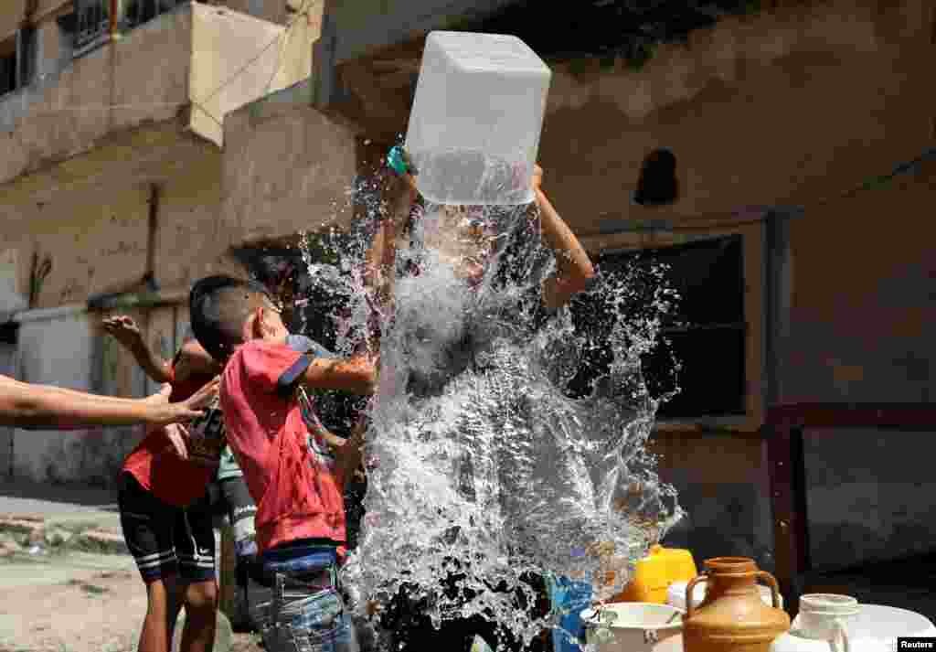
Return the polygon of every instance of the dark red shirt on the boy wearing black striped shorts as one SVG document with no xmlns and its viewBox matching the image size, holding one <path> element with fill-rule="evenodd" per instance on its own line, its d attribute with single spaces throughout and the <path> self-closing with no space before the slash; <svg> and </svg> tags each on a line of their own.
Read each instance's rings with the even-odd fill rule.
<svg viewBox="0 0 936 652">
<path fill-rule="evenodd" d="M 178 361 L 179 355 L 176 354 L 169 370 L 169 384 L 172 385 L 170 403 L 184 401 L 214 378 L 212 374 L 192 374 L 176 381 L 175 365 Z M 137 448 L 127 455 L 124 471 L 131 473 L 141 487 L 163 502 L 185 507 L 204 496 L 217 467 L 183 460 L 170 450 L 170 446 L 162 428 L 151 429 Z"/>
</svg>

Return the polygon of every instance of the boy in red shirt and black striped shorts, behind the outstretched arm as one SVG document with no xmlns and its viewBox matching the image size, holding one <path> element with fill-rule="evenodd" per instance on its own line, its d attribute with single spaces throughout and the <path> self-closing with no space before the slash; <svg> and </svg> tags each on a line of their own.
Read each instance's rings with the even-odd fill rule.
<svg viewBox="0 0 936 652">
<path fill-rule="evenodd" d="M 145 347 L 132 319 L 107 319 L 104 328 L 143 363 L 151 377 L 168 381 L 170 402 L 197 393 L 220 371 L 195 340 L 186 342 L 172 362 L 165 363 Z M 209 410 L 207 419 L 219 420 L 216 408 Z M 217 471 L 224 439 L 216 435 L 193 446 L 191 438 L 173 441 L 171 435 L 153 430 L 144 437 L 124 460 L 119 481 L 124 539 L 146 584 L 148 600 L 139 652 L 168 652 L 183 603 L 181 649 L 209 651 L 214 643 L 217 586 L 206 490 Z"/>
</svg>

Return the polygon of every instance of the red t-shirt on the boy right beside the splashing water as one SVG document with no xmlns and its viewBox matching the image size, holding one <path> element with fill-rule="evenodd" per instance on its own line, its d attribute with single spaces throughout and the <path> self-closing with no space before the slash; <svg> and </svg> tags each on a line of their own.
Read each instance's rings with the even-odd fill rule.
<svg viewBox="0 0 936 652">
<path fill-rule="evenodd" d="M 317 434 L 303 422 L 296 387 L 313 349 L 301 336 L 286 344 L 252 340 L 234 352 L 222 375 L 227 443 L 256 501 L 261 553 L 300 539 L 328 539 L 344 553 L 342 481 L 323 449 L 311 445 Z"/>
</svg>

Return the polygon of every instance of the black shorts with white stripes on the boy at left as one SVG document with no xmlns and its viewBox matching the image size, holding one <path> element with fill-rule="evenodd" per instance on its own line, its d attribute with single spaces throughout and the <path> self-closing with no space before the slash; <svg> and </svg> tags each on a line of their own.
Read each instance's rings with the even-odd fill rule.
<svg viewBox="0 0 936 652">
<path fill-rule="evenodd" d="M 169 505 L 124 472 L 118 502 L 124 541 L 143 582 L 176 575 L 184 582 L 214 580 L 214 528 L 207 500 L 186 508 Z"/>
</svg>

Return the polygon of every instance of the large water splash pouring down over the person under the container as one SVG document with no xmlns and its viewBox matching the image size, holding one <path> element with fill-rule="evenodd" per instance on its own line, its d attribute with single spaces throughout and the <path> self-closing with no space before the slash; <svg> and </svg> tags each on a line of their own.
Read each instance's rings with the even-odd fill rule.
<svg viewBox="0 0 936 652">
<path fill-rule="evenodd" d="M 355 185 L 366 216 L 387 210 L 377 186 Z M 383 318 L 367 444 L 378 464 L 346 573 L 365 596 L 405 585 L 436 626 L 483 615 L 529 643 L 557 615 L 520 613 L 515 591 L 535 599 L 521 577 L 601 585 L 610 551 L 633 562 L 680 518 L 675 490 L 646 451 L 667 396 L 651 395 L 641 367 L 678 297 L 662 266 L 633 264 L 599 274 L 578 296 L 599 328 L 577 325 L 568 308 L 544 319 L 539 289 L 555 263 L 535 217 L 484 209 L 495 245 L 486 274 L 471 281 L 462 274 L 471 243 L 452 237 L 453 215 L 428 206 L 398 245 L 398 268 L 419 273 L 397 278 L 393 319 Z M 312 286 L 343 299 L 329 318 L 336 348 L 348 353 L 371 305 L 359 272 L 366 230 L 319 236 L 317 254 L 306 240 Z M 600 368 L 582 374 L 581 361 L 595 357 Z M 439 590 L 453 560 L 457 595 Z M 628 578 L 627 563 L 614 570 L 606 598 Z M 490 590 L 498 583 L 507 592 Z"/>
</svg>

